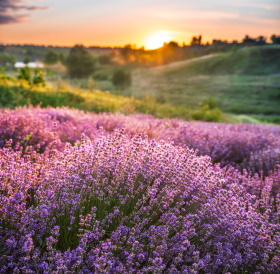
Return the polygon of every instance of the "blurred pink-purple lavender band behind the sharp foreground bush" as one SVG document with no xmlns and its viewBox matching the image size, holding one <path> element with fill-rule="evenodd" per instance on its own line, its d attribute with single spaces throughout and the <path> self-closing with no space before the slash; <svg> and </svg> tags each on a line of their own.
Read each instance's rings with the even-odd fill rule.
<svg viewBox="0 0 280 274">
<path fill-rule="evenodd" d="M 57 125 L 54 129 L 53 125 Z M 43 151 L 54 139 L 74 144 L 82 133 L 95 139 L 103 133 L 125 128 L 134 136 L 143 133 L 156 140 L 196 149 L 213 163 L 234 166 L 252 174 L 268 175 L 280 160 L 280 127 L 269 125 L 230 125 L 155 119 L 147 115 L 92 114 L 68 108 L 18 108 L 0 113 L 0 147 L 9 139 L 13 146 L 34 146 Z M 54 136 L 54 133 L 56 136 Z"/>
</svg>

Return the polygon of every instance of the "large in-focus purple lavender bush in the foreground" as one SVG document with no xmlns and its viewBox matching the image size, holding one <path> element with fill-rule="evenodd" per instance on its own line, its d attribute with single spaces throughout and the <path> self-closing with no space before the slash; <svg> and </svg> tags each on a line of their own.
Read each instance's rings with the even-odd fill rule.
<svg viewBox="0 0 280 274">
<path fill-rule="evenodd" d="M 277 273 L 279 173 L 242 176 L 122 130 L 59 145 L 0 149 L 2 273 Z"/>
</svg>

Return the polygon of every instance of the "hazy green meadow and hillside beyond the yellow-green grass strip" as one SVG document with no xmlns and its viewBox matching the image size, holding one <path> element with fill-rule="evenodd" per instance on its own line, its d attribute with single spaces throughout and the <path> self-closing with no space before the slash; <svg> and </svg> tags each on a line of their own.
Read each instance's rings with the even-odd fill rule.
<svg viewBox="0 0 280 274">
<path fill-rule="evenodd" d="M 279 54 L 279 45 L 252 46 L 160 66 L 135 62 L 97 64 L 92 79 L 69 79 L 60 67 L 50 79 L 63 80 L 78 89 L 94 88 L 138 100 L 148 97 L 190 113 L 201 111 L 211 101 L 223 113 L 220 119 L 212 121 L 279 124 Z M 118 88 L 112 84 L 112 75 L 118 69 L 131 73 L 131 86 Z M 158 117 L 194 118 L 192 115 Z M 205 115 L 198 118 L 207 120 Z"/>
</svg>

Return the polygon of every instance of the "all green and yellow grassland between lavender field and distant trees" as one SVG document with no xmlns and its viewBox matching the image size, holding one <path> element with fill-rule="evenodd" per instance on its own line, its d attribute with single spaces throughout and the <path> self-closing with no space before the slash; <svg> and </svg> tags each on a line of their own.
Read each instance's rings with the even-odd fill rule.
<svg viewBox="0 0 280 274">
<path fill-rule="evenodd" d="M 160 118 L 280 123 L 280 46 L 244 47 L 153 68 L 137 64 L 96 66 L 92 77 L 70 79 L 65 67 L 47 67 L 49 89 L 11 88 L 0 105 L 68 105 L 94 112 L 147 113 Z M 112 84 L 116 70 L 132 85 Z M 3 87 L 2 87 L 3 89 Z M 46 94 L 47 93 L 47 94 Z M 209 98 L 219 109 L 207 107 Z"/>
</svg>

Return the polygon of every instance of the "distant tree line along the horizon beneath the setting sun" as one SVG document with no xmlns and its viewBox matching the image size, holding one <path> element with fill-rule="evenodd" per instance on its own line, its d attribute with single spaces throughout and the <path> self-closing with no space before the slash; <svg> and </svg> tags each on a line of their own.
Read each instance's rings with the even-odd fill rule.
<svg viewBox="0 0 280 274">
<path fill-rule="evenodd" d="M 141 66 L 156 66 L 211 53 L 237 50 L 241 47 L 276 44 L 280 44 L 280 35 L 273 34 L 269 39 L 262 35 L 256 38 L 246 35 L 242 41 L 213 39 L 211 43 L 203 43 L 202 35 L 198 35 L 192 37 L 188 45 L 185 43 L 180 45 L 176 41 L 171 41 L 155 50 L 137 48 L 131 44 L 124 47 L 90 46 L 84 48 L 100 65 L 135 63 Z M 46 64 L 61 62 L 65 65 L 70 49 L 70 47 L 58 46 L 0 44 L 0 66 L 12 69 L 17 61 L 26 63 L 41 61 Z"/>
</svg>

